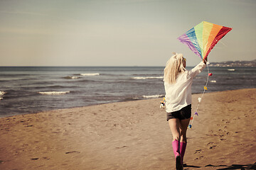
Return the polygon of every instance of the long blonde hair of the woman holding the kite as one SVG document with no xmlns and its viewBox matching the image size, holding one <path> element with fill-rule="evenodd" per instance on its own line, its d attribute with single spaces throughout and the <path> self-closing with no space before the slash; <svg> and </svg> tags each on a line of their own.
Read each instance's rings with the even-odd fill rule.
<svg viewBox="0 0 256 170">
<path fill-rule="evenodd" d="M 174 84 L 179 73 L 186 72 L 183 62 L 186 62 L 182 54 L 173 52 L 173 56 L 166 62 L 164 68 L 164 81 L 169 84 Z"/>
</svg>

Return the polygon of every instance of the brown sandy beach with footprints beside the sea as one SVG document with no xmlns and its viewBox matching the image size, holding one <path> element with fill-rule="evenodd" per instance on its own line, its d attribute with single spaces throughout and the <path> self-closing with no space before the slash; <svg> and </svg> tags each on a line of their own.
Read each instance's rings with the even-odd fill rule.
<svg viewBox="0 0 256 170">
<path fill-rule="evenodd" d="M 0 118 L 0 169 L 174 169 L 160 101 Z M 188 130 L 185 169 L 256 169 L 255 101 L 256 89 L 205 94 Z"/>
</svg>

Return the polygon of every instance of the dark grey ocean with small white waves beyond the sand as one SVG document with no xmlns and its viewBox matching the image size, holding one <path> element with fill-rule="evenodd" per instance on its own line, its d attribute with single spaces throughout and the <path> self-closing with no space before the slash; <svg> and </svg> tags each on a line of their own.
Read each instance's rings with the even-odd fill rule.
<svg viewBox="0 0 256 170">
<path fill-rule="evenodd" d="M 206 93 L 256 87 L 255 67 L 209 69 L 213 76 Z M 163 71 L 164 67 L 0 67 L 0 118 L 163 97 Z M 203 93 L 207 75 L 204 69 L 194 79 L 192 94 Z"/>
</svg>

